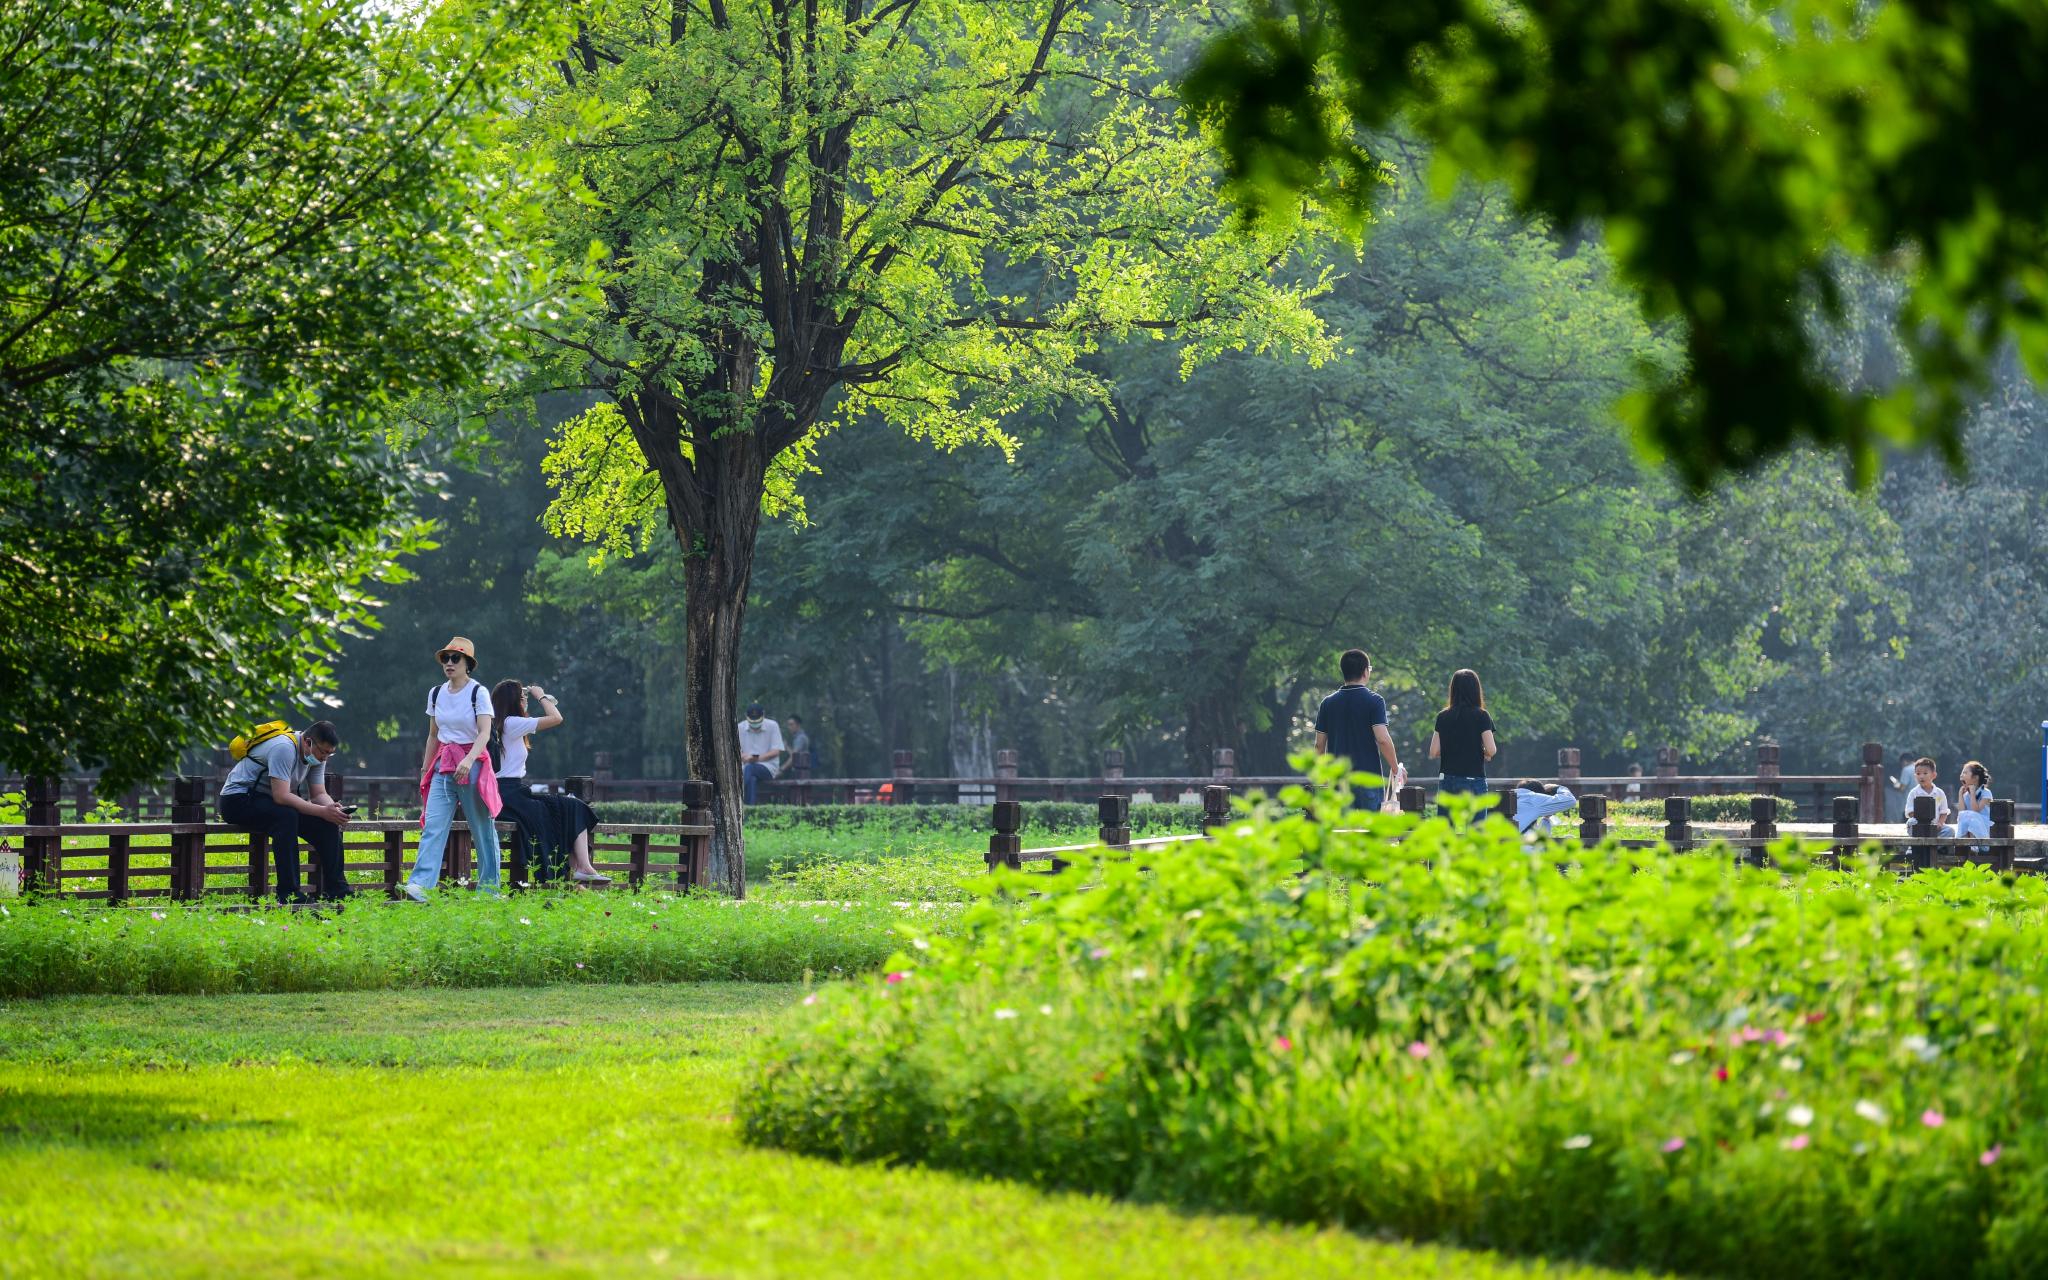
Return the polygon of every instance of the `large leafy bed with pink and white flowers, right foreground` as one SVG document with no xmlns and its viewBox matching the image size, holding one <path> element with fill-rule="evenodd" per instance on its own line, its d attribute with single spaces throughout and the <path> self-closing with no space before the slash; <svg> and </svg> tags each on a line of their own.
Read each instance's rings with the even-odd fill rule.
<svg viewBox="0 0 2048 1280">
<path fill-rule="evenodd" d="M 1704 1274 L 2048 1274 L 2042 881 L 1559 874 L 1505 823 L 1284 803 L 817 993 L 745 1135 Z"/>
</svg>

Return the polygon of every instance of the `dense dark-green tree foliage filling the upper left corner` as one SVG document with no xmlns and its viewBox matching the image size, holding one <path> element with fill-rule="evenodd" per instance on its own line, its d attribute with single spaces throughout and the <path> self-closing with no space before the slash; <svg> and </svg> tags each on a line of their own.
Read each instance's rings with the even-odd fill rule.
<svg viewBox="0 0 2048 1280">
<path fill-rule="evenodd" d="M 512 8 L 0 4 L 0 762 L 121 786 L 371 625 L 424 539 L 399 414 L 518 293 Z"/>
</svg>

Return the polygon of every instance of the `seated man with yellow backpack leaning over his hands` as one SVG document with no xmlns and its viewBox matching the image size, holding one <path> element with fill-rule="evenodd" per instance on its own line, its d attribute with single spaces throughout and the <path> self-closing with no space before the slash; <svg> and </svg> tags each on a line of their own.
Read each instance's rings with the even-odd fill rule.
<svg viewBox="0 0 2048 1280">
<path fill-rule="evenodd" d="M 301 836 L 319 866 L 319 897 L 348 897 L 342 874 L 342 825 L 348 823 L 348 813 L 328 795 L 328 758 L 340 743 L 342 735 L 328 721 L 260 739 L 221 786 L 221 821 L 270 838 L 281 903 L 313 901 L 299 889 Z M 305 788 L 305 797 L 297 795 L 299 788 Z"/>
</svg>

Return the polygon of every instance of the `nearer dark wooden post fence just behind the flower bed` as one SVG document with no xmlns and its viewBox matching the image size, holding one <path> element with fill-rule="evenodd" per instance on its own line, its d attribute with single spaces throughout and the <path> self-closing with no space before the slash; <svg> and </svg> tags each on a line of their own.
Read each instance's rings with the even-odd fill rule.
<svg viewBox="0 0 2048 1280">
<path fill-rule="evenodd" d="M 1421 815 L 1430 797 L 1421 786 L 1403 786 L 1399 793 L 1403 813 Z M 1749 803 L 1749 823 L 1694 825 L 1692 797 L 1665 797 L 1665 823 L 1657 840 L 1616 840 L 1618 848 L 1671 852 L 1694 852 L 1704 848 L 1735 850 L 1739 862 L 1751 866 L 1772 864 L 1772 846 L 1784 840 L 1778 829 L 1778 803 L 1772 797 L 1755 797 Z M 1833 799 L 1833 823 L 1825 840 L 1806 840 L 1817 846 L 1817 860 L 1823 866 L 1839 868 L 1845 858 L 1876 848 L 1884 854 L 1890 870 L 1915 872 L 1937 866 L 1980 864 L 1999 872 L 2044 874 L 2048 858 L 2021 856 L 2019 840 L 2013 836 L 2013 801 L 1991 801 L 1991 836 L 1942 836 L 1935 823 L 1933 797 L 1913 801 L 1913 815 L 1903 836 L 1866 831 L 1858 811 L 1862 801 L 1853 795 Z M 1493 813 L 1513 821 L 1516 788 L 1501 786 L 1493 793 Z M 1210 831 L 1231 819 L 1231 793 L 1227 786 L 1210 786 L 1202 793 L 1202 834 L 1130 838 L 1130 801 L 1106 795 L 1096 801 L 1100 829 L 1094 842 L 1061 844 L 1047 848 L 1022 848 L 1022 809 L 1014 801 L 997 801 L 993 809 L 995 834 L 989 836 L 985 854 L 989 870 L 1008 866 L 1022 870 L 1026 864 L 1044 862 L 1049 870 L 1063 870 L 1079 856 L 1094 856 L 1110 850 L 1116 856 L 1130 856 L 1143 850 L 1163 850 L 1176 844 L 1208 840 Z M 1573 836 L 1565 823 L 1567 840 Z M 1606 844 L 1612 836 L 1608 821 L 1608 797 L 1581 795 L 1577 840 L 1583 848 Z"/>
</svg>

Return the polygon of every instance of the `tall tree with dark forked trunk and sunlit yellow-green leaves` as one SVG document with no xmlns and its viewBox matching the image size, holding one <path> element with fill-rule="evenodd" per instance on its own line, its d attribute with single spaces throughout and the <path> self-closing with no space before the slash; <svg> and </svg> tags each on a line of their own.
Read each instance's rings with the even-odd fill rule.
<svg viewBox="0 0 2048 1280">
<path fill-rule="evenodd" d="M 606 403 L 563 432 L 557 530 L 684 553 L 684 733 L 717 784 L 713 877 L 743 891 L 737 655 L 764 510 L 821 434 L 952 449 L 1100 397 L 1081 358 L 1171 332 L 1190 362 L 1317 346 L 1288 236 L 1219 227 L 1155 51 L 1200 4 L 588 4 L 512 143 L 553 166 L 575 309 L 541 385 Z M 664 535 L 666 530 L 666 535 Z"/>
</svg>

